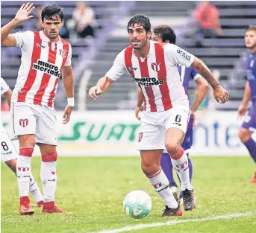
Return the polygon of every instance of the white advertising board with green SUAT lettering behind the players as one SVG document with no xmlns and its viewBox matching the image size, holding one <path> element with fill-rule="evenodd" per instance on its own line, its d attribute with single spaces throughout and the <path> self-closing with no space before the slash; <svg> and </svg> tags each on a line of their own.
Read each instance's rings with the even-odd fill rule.
<svg viewBox="0 0 256 233">
<path fill-rule="evenodd" d="M 72 112 L 71 121 L 62 124 L 63 112 L 57 112 L 57 151 L 63 156 L 136 156 L 140 121 L 134 111 Z M 10 120 L 1 112 L 1 122 Z M 240 143 L 237 112 L 200 113 L 194 128 L 192 155 L 246 156 Z M 35 153 L 39 153 L 37 149 Z"/>
</svg>

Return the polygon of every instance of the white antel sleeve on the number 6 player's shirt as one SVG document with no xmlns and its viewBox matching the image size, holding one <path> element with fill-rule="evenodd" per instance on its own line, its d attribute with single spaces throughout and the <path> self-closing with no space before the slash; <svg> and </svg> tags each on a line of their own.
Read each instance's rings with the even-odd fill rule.
<svg viewBox="0 0 256 233">
<path fill-rule="evenodd" d="M 177 45 L 167 44 L 164 46 L 165 56 L 167 56 L 173 65 L 190 67 L 195 56 L 178 47 Z"/>
</svg>

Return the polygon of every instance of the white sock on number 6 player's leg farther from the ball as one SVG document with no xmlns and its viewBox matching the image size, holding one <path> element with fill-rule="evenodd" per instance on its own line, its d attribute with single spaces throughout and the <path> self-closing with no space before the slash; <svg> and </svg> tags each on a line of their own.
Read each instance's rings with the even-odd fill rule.
<svg viewBox="0 0 256 233">
<path fill-rule="evenodd" d="M 188 159 L 187 155 L 184 153 L 179 159 L 172 159 L 172 167 L 177 171 L 178 177 L 181 180 L 181 191 L 184 191 L 186 188 L 192 190 L 192 185 L 190 183 L 190 170 L 188 167 Z"/>
</svg>

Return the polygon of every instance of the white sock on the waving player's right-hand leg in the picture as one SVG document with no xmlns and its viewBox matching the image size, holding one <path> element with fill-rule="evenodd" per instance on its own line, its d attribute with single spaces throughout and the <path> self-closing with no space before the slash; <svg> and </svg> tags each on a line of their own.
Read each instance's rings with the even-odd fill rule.
<svg viewBox="0 0 256 233">
<path fill-rule="evenodd" d="M 57 184 L 56 161 L 41 162 L 41 180 L 44 202 L 54 201 Z"/>
</svg>

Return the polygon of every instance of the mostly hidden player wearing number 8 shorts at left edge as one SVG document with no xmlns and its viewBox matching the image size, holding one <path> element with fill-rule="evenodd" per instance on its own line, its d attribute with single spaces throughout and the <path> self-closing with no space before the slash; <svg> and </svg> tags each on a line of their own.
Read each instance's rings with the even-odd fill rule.
<svg viewBox="0 0 256 233">
<path fill-rule="evenodd" d="M 10 99 L 12 91 L 5 83 L 4 79 L 1 77 L 1 95 L 5 95 L 7 103 L 10 106 Z M 10 137 L 7 131 L 4 129 L 1 124 L 1 162 L 4 162 L 10 170 L 13 171 L 16 175 L 16 164 L 17 164 L 18 153 L 16 148 L 13 145 L 13 142 L 10 140 Z M 18 167 L 20 169 L 22 167 Z M 43 195 L 40 192 L 40 189 L 37 186 L 37 182 L 34 180 L 32 174 L 30 175 L 29 191 L 34 197 L 34 200 L 37 202 L 38 207 L 43 207 Z"/>
</svg>

